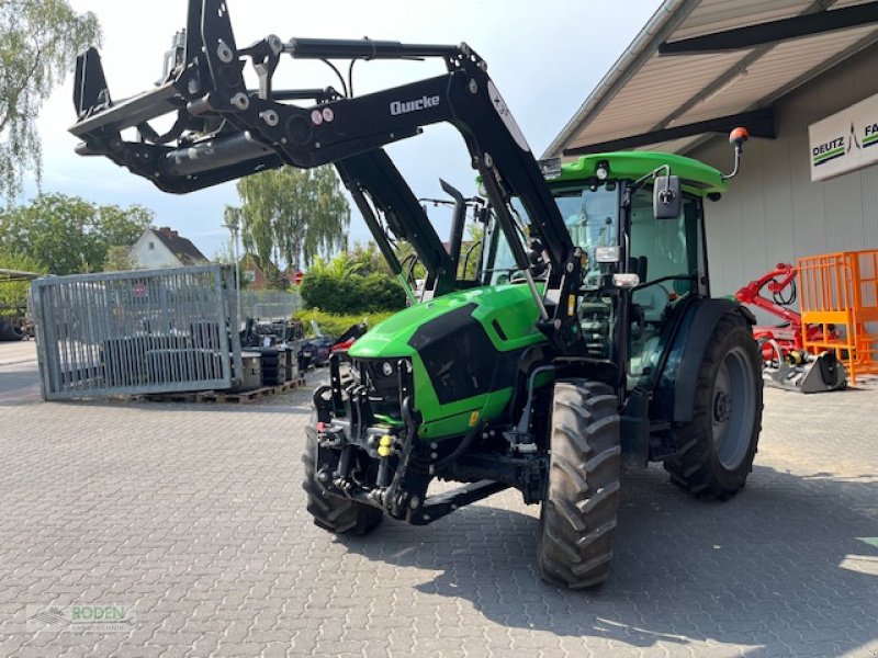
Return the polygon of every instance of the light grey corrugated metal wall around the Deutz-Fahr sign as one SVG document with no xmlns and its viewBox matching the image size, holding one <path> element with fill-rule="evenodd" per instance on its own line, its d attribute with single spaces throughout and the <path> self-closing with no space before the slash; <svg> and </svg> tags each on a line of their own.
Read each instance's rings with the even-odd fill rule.
<svg viewBox="0 0 878 658">
<path fill-rule="evenodd" d="M 712 294 L 728 295 L 778 262 L 830 251 L 878 248 L 878 166 L 811 182 L 808 126 L 878 93 L 878 47 L 811 80 L 775 105 L 777 139 L 744 147 L 742 173 L 719 203 L 707 203 Z M 721 171 L 725 139 L 687 154 Z"/>
</svg>

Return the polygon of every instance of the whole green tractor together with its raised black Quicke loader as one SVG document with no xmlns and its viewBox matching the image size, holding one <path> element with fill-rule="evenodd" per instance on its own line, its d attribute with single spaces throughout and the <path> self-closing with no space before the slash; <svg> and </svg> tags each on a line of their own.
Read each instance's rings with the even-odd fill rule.
<svg viewBox="0 0 878 658">
<path fill-rule="evenodd" d="M 278 90 L 282 58 L 439 59 L 447 72 L 352 97 Z M 314 522 L 421 525 L 515 488 L 541 503 L 540 572 L 607 578 L 620 469 L 663 462 L 702 498 L 743 487 L 762 418 L 753 316 L 710 297 L 703 212 L 727 179 L 680 156 L 538 163 L 469 46 L 277 36 L 235 43 L 226 3 L 190 0 L 153 90 L 115 102 L 95 50 L 77 67 L 82 155 L 185 193 L 284 164 L 331 163 L 412 306 L 330 360 L 314 393 L 304 489 Z M 250 65 L 258 89 L 248 89 Z M 352 70 L 352 66 L 349 70 Z M 175 117 L 164 135 L 150 125 Z M 448 123 L 485 200 L 477 272 L 459 274 L 386 144 Z M 128 133 L 136 135 L 131 138 Z M 735 170 L 745 134 L 735 134 Z M 462 195 L 461 195 L 462 196 Z M 392 237 L 427 271 L 416 295 Z M 428 495 L 434 479 L 457 489 Z"/>
</svg>

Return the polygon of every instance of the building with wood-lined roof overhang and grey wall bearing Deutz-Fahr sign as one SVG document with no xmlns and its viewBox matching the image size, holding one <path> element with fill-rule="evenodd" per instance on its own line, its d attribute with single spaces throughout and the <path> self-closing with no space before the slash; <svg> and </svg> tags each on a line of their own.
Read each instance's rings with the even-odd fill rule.
<svg viewBox="0 0 878 658">
<path fill-rule="evenodd" d="M 666 0 L 544 157 L 665 150 L 729 171 L 728 133 L 750 128 L 742 173 L 706 206 L 711 292 L 728 295 L 779 262 L 878 249 L 876 71 L 875 2 Z M 814 124 L 840 112 L 832 137 L 858 163 L 824 179 Z"/>
</svg>

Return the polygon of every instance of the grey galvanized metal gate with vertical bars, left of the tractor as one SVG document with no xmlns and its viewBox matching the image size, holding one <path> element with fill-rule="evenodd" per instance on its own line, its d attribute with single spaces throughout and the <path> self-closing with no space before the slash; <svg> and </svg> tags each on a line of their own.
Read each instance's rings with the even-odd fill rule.
<svg viewBox="0 0 878 658">
<path fill-rule="evenodd" d="M 38 279 L 43 398 L 230 388 L 241 372 L 227 265 Z"/>
</svg>

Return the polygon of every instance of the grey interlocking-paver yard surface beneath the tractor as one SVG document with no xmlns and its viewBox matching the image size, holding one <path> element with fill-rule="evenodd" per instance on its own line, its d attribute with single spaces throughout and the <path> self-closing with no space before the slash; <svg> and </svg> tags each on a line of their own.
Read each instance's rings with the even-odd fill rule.
<svg viewBox="0 0 878 658">
<path fill-rule="evenodd" d="M 539 581 L 538 509 L 514 492 L 364 540 L 312 525 L 307 399 L 0 393 L 0 656 L 878 656 L 878 390 L 768 390 L 728 503 L 627 478 L 612 575 L 588 593 Z M 29 622 L 72 605 L 131 625 Z"/>
</svg>

